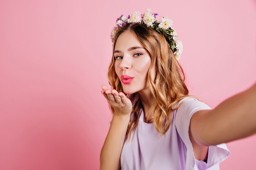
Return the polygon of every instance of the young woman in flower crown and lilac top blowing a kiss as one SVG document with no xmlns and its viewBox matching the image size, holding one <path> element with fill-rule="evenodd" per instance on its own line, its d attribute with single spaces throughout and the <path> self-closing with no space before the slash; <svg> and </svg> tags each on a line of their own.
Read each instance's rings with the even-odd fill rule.
<svg viewBox="0 0 256 170">
<path fill-rule="evenodd" d="M 224 143 L 256 133 L 256 84 L 211 109 L 189 95 L 177 61 L 182 43 L 172 21 L 121 15 L 112 31 L 102 85 L 113 118 L 100 155 L 101 170 L 218 170 Z"/>
</svg>

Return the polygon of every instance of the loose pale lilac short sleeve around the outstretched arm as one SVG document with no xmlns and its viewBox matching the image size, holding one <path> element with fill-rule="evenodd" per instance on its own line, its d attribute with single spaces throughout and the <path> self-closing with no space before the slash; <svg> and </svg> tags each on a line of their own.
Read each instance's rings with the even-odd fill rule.
<svg viewBox="0 0 256 170">
<path fill-rule="evenodd" d="M 210 167 L 211 170 L 219 170 L 218 163 L 225 160 L 230 155 L 225 144 L 209 146 L 207 163 L 198 161 L 194 157 L 192 143 L 189 138 L 189 125 L 191 117 L 198 110 L 211 110 L 211 108 L 192 97 L 186 97 L 180 101 L 181 106 L 175 113 L 175 127 L 187 150 L 186 155 L 186 170 L 206 170 Z"/>
</svg>

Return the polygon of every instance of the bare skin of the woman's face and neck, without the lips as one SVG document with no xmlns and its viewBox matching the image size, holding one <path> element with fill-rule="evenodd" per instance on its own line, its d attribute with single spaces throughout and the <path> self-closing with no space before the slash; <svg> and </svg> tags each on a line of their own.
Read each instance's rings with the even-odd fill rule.
<svg viewBox="0 0 256 170">
<path fill-rule="evenodd" d="M 147 119 L 153 117 L 148 114 L 150 106 L 153 104 L 153 96 L 150 94 L 148 85 L 148 69 L 151 62 L 153 68 L 151 70 L 151 79 L 155 79 L 156 64 L 151 61 L 150 54 L 137 40 L 135 35 L 130 31 L 126 31 L 119 35 L 114 51 L 115 72 L 121 81 L 121 75 L 129 75 L 134 77 L 132 82 L 124 84 L 121 82 L 123 90 L 126 94 L 138 92 L 144 113 Z"/>
</svg>

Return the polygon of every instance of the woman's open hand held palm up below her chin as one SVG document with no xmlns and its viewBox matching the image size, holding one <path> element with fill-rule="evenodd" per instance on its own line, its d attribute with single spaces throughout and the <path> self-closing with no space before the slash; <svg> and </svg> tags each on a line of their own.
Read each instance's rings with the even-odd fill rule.
<svg viewBox="0 0 256 170">
<path fill-rule="evenodd" d="M 101 93 L 107 99 L 108 103 L 114 108 L 114 115 L 117 116 L 129 116 L 132 113 L 132 102 L 124 95 L 124 93 L 118 93 L 115 89 L 112 91 L 108 89 L 106 85 L 101 85 Z"/>
</svg>

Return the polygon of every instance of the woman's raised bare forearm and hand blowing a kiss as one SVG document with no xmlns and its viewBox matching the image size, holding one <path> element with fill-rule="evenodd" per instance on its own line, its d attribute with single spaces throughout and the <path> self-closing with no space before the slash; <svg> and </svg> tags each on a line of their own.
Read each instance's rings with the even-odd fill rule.
<svg viewBox="0 0 256 170">
<path fill-rule="evenodd" d="M 101 150 L 100 170 L 120 170 L 121 150 L 130 121 L 132 103 L 124 93 L 118 93 L 116 90 L 111 91 L 106 85 L 102 85 L 101 88 L 101 93 L 115 109 L 115 112 Z"/>
</svg>

